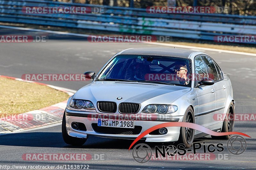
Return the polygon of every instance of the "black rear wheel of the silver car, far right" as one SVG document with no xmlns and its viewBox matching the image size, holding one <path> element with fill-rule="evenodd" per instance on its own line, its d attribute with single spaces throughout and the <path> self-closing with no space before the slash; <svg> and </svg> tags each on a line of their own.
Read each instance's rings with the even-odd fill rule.
<svg viewBox="0 0 256 170">
<path fill-rule="evenodd" d="M 230 120 L 230 117 L 232 120 Z M 230 103 L 228 107 L 228 111 L 226 114 L 226 118 L 224 119 L 221 132 L 231 132 L 234 129 L 234 104 Z M 231 135 L 225 135 L 225 136 L 212 136 L 213 139 L 220 139 L 220 140 L 227 140 L 231 137 Z"/>
</svg>

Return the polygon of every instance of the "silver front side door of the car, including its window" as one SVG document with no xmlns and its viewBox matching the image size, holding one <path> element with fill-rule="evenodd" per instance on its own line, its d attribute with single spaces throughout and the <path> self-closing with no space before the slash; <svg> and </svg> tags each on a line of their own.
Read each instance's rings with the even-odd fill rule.
<svg viewBox="0 0 256 170">
<path fill-rule="evenodd" d="M 215 89 L 213 85 L 210 86 L 199 86 L 198 82 L 201 81 L 203 77 L 209 77 L 207 67 L 204 63 L 201 55 L 195 57 L 195 89 L 198 97 L 198 113 L 195 115 L 197 119 L 197 124 L 204 127 L 211 126 L 213 124 L 213 116 L 215 114 L 216 96 Z"/>
</svg>

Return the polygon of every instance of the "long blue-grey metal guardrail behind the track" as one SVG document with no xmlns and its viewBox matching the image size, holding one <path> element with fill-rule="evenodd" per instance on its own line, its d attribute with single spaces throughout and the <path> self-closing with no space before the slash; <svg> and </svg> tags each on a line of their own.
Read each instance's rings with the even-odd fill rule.
<svg viewBox="0 0 256 170">
<path fill-rule="evenodd" d="M 22 11 L 24 6 L 103 7 L 104 13 L 30 14 Z M 37 0 L 0 0 L 0 21 L 204 40 L 214 40 L 216 35 L 247 35 L 256 31 L 254 16 L 152 14 L 146 9 Z"/>
</svg>

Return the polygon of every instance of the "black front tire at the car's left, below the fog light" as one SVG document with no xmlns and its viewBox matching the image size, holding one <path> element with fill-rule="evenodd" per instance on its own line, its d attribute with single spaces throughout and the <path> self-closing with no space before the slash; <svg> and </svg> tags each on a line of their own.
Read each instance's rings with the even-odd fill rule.
<svg viewBox="0 0 256 170">
<path fill-rule="evenodd" d="M 68 135 L 67 129 L 66 129 L 66 115 L 65 115 L 65 112 L 64 112 L 63 118 L 62 118 L 61 131 L 62 131 L 63 140 L 68 145 L 81 146 L 81 145 L 84 145 L 84 143 L 87 140 L 87 138 L 86 139 L 80 139 L 80 138 L 75 138 L 75 137 L 72 137 L 72 136 Z"/>
</svg>

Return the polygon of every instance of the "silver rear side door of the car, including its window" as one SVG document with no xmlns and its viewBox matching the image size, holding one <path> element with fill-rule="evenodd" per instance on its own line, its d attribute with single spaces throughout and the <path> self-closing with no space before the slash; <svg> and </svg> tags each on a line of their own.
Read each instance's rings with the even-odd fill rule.
<svg viewBox="0 0 256 170">
<path fill-rule="evenodd" d="M 216 108 L 215 108 L 215 116 L 214 122 L 218 124 L 221 122 L 221 118 L 224 116 L 224 110 L 226 106 L 227 100 L 227 90 L 226 84 L 223 78 L 223 74 L 220 70 L 220 67 L 216 64 L 216 62 L 211 59 L 209 56 L 202 55 L 203 60 L 208 68 L 209 76 L 214 80 L 214 89 L 216 96 Z M 221 115 L 221 116 L 220 116 Z M 220 119 L 218 119 L 221 117 Z"/>
</svg>

